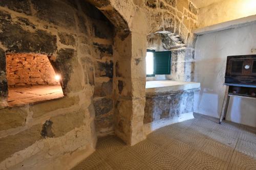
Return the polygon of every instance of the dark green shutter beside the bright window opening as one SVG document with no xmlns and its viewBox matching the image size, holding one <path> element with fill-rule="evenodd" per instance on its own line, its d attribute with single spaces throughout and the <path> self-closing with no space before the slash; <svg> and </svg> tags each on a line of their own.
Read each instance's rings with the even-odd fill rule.
<svg viewBox="0 0 256 170">
<path fill-rule="evenodd" d="M 155 52 L 155 74 L 170 75 L 170 52 Z"/>
</svg>

